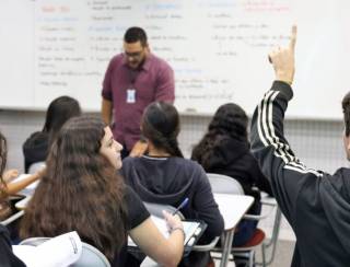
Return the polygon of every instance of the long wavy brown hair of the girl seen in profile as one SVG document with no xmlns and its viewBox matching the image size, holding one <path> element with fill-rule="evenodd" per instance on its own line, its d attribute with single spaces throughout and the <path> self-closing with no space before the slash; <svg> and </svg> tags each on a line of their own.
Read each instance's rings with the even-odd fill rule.
<svg viewBox="0 0 350 267">
<path fill-rule="evenodd" d="M 57 135 L 47 167 L 28 204 L 21 236 L 55 236 L 75 230 L 109 260 L 127 239 L 124 183 L 100 153 L 101 118 L 71 118 Z"/>
</svg>

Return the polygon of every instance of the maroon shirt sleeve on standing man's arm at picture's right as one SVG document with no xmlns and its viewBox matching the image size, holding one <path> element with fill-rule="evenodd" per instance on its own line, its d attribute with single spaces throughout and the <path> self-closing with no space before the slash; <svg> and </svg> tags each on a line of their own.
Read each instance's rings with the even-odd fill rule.
<svg viewBox="0 0 350 267">
<path fill-rule="evenodd" d="M 165 65 L 165 67 L 161 69 L 158 77 L 158 85 L 155 89 L 155 101 L 174 103 L 174 100 L 175 100 L 174 71 L 168 65 Z"/>
</svg>

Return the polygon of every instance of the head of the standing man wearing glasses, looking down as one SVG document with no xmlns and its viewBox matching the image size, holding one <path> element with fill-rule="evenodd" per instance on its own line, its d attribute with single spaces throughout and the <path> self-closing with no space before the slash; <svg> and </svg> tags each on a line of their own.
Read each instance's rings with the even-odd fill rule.
<svg viewBox="0 0 350 267">
<path fill-rule="evenodd" d="M 141 27 L 130 27 L 124 35 L 124 50 L 128 66 L 138 69 L 148 55 L 147 34 Z"/>
</svg>

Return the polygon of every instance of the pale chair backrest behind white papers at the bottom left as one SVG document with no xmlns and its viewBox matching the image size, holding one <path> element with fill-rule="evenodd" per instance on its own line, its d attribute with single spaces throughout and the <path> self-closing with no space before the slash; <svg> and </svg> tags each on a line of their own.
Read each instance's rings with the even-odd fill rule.
<svg viewBox="0 0 350 267">
<path fill-rule="evenodd" d="M 31 237 L 23 240 L 20 245 L 37 246 L 48 240 L 50 240 L 50 237 Z M 96 247 L 82 242 L 82 254 L 70 267 L 110 267 L 110 264 L 106 256 Z"/>
</svg>

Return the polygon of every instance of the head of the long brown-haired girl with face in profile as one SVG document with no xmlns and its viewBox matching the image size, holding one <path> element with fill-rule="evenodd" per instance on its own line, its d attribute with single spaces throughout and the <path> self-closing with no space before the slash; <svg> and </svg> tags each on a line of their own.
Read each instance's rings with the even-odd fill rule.
<svg viewBox="0 0 350 267">
<path fill-rule="evenodd" d="M 57 135 L 48 161 L 54 159 L 51 163 L 55 166 L 62 164 L 62 169 L 72 164 L 90 169 L 94 164 L 103 165 L 107 160 L 114 169 L 119 170 L 121 149 L 121 144 L 114 140 L 110 128 L 101 118 L 73 117 Z M 58 159 L 60 160 L 57 161 Z"/>
</svg>

